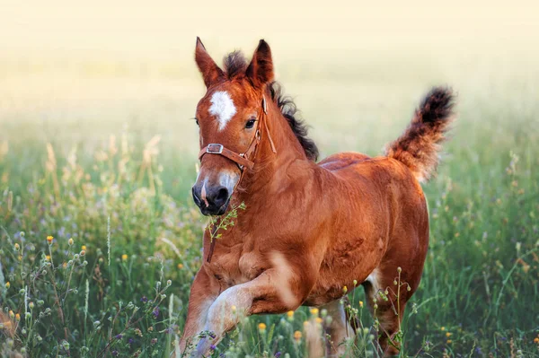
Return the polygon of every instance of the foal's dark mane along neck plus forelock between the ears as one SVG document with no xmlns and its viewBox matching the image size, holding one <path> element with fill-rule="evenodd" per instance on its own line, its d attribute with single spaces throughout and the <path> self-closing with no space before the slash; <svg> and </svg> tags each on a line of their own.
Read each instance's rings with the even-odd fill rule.
<svg viewBox="0 0 539 358">
<path fill-rule="evenodd" d="M 228 80 L 244 75 L 248 66 L 247 60 L 243 57 L 241 51 L 231 52 L 225 56 L 223 62 L 225 64 L 225 76 Z M 305 124 L 305 120 L 299 116 L 296 103 L 291 97 L 283 93 L 283 88 L 277 81 L 269 83 L 267 88 L 268 92 L 270 92 L 271 100 L 277 104 L 283 117 L 287 119 L 292 132 L 294 132 L 299 144 L 303 147 L 305 155 L 309 160 L 316 162 L 319 154 L 318 147 L 314 140 L 307 136 L 308 126 Z"/>
</svg>

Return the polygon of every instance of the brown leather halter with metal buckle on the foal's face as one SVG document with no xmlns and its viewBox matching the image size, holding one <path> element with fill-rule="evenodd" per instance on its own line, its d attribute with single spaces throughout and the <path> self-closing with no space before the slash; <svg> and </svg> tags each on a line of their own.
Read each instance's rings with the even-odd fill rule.
<svg viewBox="0 0 539 358">
<path fill-rule="evenodd" d="M 254 160 L 258 144 L 261 143 L 261 129 L 266 130 L 266 134 L 268 135 L 268 139 L 270 140 L 271 151 L 273 153 L 277 153 L 277 151 L 275 150 L 275 144 L 273 144 L 273 140 L 271 139 L 270 129 L 268 129 L 268 123 L 266 121 L 266 117 L 268 115 L 268 106 L 266 104 L 265 97 L 262 97 L 262 111 L 263 113 L 260 116 L 259 125 L 256 127 L 256 132 L 252 137 L 251 144 L 249 144 L 249 147 L 247 147 L 247 150 L 244 153 L 235 153 L 234 151 L 231 151 L 230 149 L 226 148 L 225 145 L 218 143 L 206 145 L 199 153 L 199 161 L 202 161 L 202 157 L 206 154 L 216 154 L 222 155 L 238 165 L 238 167 L 242 171 L 242 174 L 240 176 L 240 179 L 236 183 L 234 190 L 242 181 L 243 174 L 245 173 L 245 168 L 247 168 L 248 170 L 252 170 L 254 168 L 254 162 L 252 162 L 252 160 Z M 214 232 L 212 232 L 212 236 L 215 235 L 217 227 L 218 224 L 215 225 L 215 227 L 213 228 Z M 209 252 L 207 259 L 208 263 L 211 261 L 215 247 L 216 239 L 213 239 L 209 244 Z"/>
</svg>

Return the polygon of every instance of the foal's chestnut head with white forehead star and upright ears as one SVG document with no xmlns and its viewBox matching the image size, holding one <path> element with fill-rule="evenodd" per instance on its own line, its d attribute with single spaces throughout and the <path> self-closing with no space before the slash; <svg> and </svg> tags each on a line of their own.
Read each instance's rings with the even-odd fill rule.
<svg viewBox="0 0 539 358">
<path fill-rule="evenodd" d="M 270 100 L 264 99 L 263 94 L 266 84 L 273 80 L 273 63 L 270 46 L 264 40 L 260 41 L 249 65 L 235 52 L 225 58 L 221 69 L 197 39 L 195 61 L 208 91 L 199 101 L 195 116 L 203 156 L 192 194 L 202 214 L 220 215 L 226 211 L 243 167 L 224 155 L 204 154 L 219 153 L 225 148 L 243 155 L 252 148 L 261 129 L 263 102 Z"/>
</svg>

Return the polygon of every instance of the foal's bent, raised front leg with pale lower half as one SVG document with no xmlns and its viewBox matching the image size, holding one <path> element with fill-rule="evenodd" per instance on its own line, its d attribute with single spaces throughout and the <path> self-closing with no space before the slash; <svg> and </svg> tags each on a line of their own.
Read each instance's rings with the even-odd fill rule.
<svg viewBox="0 0 539 358">
<path fill-rule="evenodd" d="M 303 301 L 304 293 L 290 284 L 290 275 L 283 275 L 278 269 L 271 268 L 252 281 L 226 289 L 209 308 L 204 327 L 205 331 L 213 332 L 215 336 L 200 339 L 197 352 L 192 356 L 208 354 L 211 345 L 217 345 L 225 332 L 233 329 L 245 316 L 296 310 Z"/>
</svg>

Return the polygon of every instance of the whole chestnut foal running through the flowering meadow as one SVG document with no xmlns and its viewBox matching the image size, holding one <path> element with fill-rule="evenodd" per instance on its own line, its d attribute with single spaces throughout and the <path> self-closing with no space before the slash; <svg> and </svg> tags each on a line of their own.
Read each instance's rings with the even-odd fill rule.
<svg viewBox="0 0 539 358">
<path fill-rule="evenodd" d="M 316 163 L 316 146 L 273 82 L 264 40 L 249 64 L 234 52 L 221 69 L 199 39 L 195 59 L 208 92 L 196 112 L 201 166 L 193 199 L 206 215 L 226 214 L 230 204 L 246 210 L 219 239 L 204 234 L 181 354 L 209 354 L 245 315 L 306 305 L 330 312 L 328 354 L 338 356 L 354 333 L 339 303 L 354 281 L 365 287 L 371 311 L 378 298 L 378 354 L 397 354 L 393 336 L 429 245 L 420 181 L 437 166 L 451 92 L 429 92 L 384 157 L 339 153 Z M 377 293 L 395 287 L 398 271 L 407 289 L 381 299 Z"/>
</svg>

